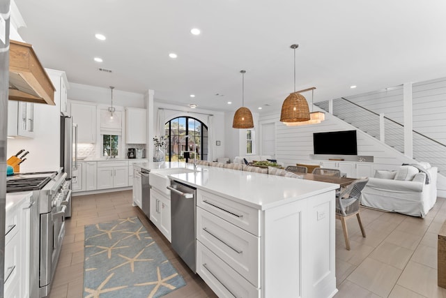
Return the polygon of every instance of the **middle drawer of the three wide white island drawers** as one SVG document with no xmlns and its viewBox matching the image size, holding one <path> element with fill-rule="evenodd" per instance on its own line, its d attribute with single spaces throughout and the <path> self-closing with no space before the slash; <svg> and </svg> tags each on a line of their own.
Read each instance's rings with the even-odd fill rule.
<svg viewBox="0 0 446 298">
<path fill-rule="evenodd" d="M 260 286 L 260 238 L 197 208 L 197 239 L 256 287 Z"/>
</svg>

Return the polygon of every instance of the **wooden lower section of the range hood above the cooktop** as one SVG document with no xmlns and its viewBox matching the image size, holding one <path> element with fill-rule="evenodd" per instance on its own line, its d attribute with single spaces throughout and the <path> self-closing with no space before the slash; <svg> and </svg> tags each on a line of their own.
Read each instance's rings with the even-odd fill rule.
<svg viewBox="0 0 446 298">
<path fill-rule="evenodd" d="M 54 86 L 29 43 L 10 40 L 9 99 L 54 103 Z"/>
</svg>

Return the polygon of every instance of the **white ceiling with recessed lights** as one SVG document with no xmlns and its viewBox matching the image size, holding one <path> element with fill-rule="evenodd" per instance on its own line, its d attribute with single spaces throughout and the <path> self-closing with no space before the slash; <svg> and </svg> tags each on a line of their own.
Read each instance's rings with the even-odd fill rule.
<svg viewBox="0 0 446 298">
<path fill-rule="evenodd" d="M 443 0 L 15 2 L 45 67 L 79 84 L 153 89 L 164 103 L 235 111 L 246 70 L 245 106 L 279 110 L 294 90 L 293 43 L 296 90 L 316 87 L 314 101 L 446 76 Z"/>
</svg>

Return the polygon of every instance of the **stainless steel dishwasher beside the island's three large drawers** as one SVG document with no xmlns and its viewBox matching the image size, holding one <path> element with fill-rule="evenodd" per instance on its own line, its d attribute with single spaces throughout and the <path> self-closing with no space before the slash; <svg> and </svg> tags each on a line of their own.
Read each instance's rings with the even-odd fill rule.
<svg viewBox="0 0 446 298">
<path fill-rule="evenodd" d="M 195 202 L 197 188 L 187 186 L 178 181 L 171 180 L 170 189 L 171 204 L 171 232 L 172 247 L 187 266 L 197 273 L 195 263 L 196 244 L 195 239 Z"/>
</svg>

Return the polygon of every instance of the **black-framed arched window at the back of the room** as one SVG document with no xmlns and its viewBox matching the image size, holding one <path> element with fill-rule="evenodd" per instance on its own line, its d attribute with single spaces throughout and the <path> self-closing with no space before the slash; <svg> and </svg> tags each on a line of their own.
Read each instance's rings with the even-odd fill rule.
<svg viewBox="0 0 446 298">
<path fill-rule="evenodd" d="M 208 159 L 208 126 L 203 122 L 192 117 L 178 117 L 167 122 L 164 130 L 167 135 L 166 161 L 187 162 L 188 158 L 194 158 L 194 154 L 197 159 Z"/>
</svg>

